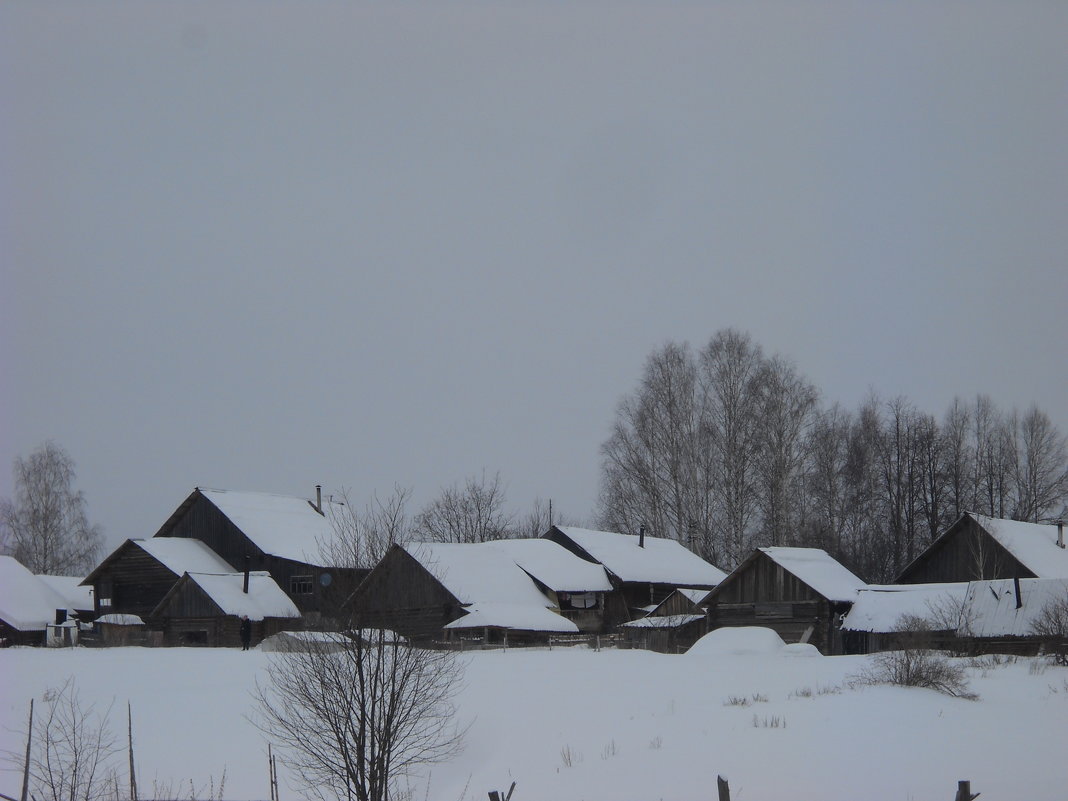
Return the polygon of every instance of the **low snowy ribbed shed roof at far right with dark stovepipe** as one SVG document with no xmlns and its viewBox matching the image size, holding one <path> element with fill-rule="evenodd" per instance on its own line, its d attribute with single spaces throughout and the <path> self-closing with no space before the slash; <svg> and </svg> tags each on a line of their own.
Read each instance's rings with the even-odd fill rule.
<svg viewBox="0 0 1068 801">
<path fill-rule="evenodd" d="M 1012 579 L 972 581 L 960 615 L 961 637 L 1028 637 L 1047 603 L 1068 600 L 1068 579 L 1020 579 L 1016 608 Z"/>
</svg>

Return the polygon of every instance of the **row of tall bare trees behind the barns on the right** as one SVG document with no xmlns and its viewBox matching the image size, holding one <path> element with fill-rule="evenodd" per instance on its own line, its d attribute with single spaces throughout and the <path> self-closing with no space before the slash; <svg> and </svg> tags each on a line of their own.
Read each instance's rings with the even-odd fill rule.
<svg viewBox="0 0 1068 801">
<path fill-rule="evenodd" d="M 823 548 L 893 579 L 964 512 L 1068 512 L 1068 444 L 1035 406 L 957 398 L 941 419 L 905 397 L 850 411 L 735 329 L 651 352 L 601 447 L 599 524 L 682 541 L 731 569 L 753 548 Z"/>
</svg>

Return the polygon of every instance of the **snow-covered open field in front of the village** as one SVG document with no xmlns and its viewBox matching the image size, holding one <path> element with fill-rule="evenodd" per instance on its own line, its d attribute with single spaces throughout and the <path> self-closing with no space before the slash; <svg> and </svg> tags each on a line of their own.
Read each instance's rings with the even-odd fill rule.
<svg viewBox="0 0 1068 801">
<path fill-rule="evenodd" d="M 481 800 L 515 781 L 513 801 L 705 801 L 716 798 L 717 773 L 738 801 L 948 800 L 961 779 L 989 801 L 1068 797 L 1068 670 L 1031 659 L 972 668 L 980 700 L 969 702 L 921 689 L 849 689 L 866 657 L 754 650 L 465 655 L 465 751 L 436 766 L 429 790 L 420 785 L 415 798 Z M 115 700 L 116 723 L 125 725 L 132 703 L 142 788 L 157 778 L 203 786 L 225 770 L 227 799 L 267 798 L 266 744 L 246 716 L 271 658 L 284 657 L 2 650 L 0 749 L 23 748 L 31 696 L 75 676 L 83 701 Z M 298 798 L 280 774 L 283 798 Z M 18 788 L 9 766 L 0 792 Z"/>
</svg>

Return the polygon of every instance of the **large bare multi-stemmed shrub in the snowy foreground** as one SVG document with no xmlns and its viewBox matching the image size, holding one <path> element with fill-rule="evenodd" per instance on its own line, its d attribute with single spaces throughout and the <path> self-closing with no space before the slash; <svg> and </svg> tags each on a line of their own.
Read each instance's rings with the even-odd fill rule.
<svg viewBox="0 0 1068 801">
<path fill-rule="evenodd" d="M 255 690 L 256 724 L 308 797 L 386 801 L 399 779 L 455 754 L 460 657 L 381 629 L 279 654 Z"/>
</svg>

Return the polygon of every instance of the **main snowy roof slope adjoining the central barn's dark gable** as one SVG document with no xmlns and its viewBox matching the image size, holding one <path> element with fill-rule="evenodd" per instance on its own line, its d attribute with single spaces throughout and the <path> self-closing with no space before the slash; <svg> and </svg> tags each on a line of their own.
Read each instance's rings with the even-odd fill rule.
<svg viewBox="0 0 1068 801">
<path fill-rule="evenodd" d="M 552 606 L 503 550 L 468 543 L 409 543 L 404 549 L 460 603 Z"/>
</svg>

